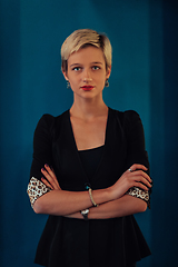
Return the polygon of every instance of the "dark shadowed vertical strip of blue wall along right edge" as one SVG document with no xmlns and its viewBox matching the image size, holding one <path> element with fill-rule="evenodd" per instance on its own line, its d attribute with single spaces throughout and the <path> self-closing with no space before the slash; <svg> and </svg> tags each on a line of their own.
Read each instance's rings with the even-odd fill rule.
<svg viewBox="0 0 178 267">
<path fill-rule="evenodd" d="M 178 2 L 150 3 L 151 266 L 167 267 L 176 266 L 178 238 Z"/>
</svg>

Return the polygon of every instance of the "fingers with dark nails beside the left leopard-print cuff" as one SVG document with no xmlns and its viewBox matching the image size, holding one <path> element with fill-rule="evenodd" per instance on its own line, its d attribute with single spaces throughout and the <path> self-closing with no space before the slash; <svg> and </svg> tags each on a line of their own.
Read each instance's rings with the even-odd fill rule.
<svg viewBox="0 0 178 267">
<path fill-rule="evenodd" d="M 41 172 L 44 176 L 44 178 L 41 178 L 41 181 L 52 190 L 61 190 L 53 169 L 50 168 L 48 165 L 44 165 L 44 168 L 41 169 Z"/>
</svg>

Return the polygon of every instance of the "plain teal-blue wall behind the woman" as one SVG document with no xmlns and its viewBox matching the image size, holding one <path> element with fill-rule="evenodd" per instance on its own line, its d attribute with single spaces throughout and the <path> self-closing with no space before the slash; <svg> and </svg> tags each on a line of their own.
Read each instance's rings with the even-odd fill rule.
<svg viewBox="0 0 178 267">
<path fill-rule="evenodd" d="M 47 216 L 26 194 L 40 117 L 70 108 L 60 47 L 76 29 L 106 32 L 112 43 L 108 106 L 135 109 L 144 122 L 151 210 L 137 220 L 152 256 L 138 266 L 178 266 L 178 1 L 0 1 L 0 266 L 33 267 Z"/>
</svg>

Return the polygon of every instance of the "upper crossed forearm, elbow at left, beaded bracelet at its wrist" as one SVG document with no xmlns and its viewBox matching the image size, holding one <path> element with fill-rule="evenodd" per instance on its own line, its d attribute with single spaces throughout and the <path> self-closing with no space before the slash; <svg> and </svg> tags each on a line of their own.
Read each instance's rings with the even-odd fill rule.
<svg viewBox="0 0 178 267">
<path fill-rule="evenodd" d="M 99 205 L 112 200 L 108 189 L 95 190 L 95 201 Z M 67 216 L 86 208 L 92 202 L 88 191 L 51 190 L 38 198 L 33 204 L 37 214 Z"/>
</svg>

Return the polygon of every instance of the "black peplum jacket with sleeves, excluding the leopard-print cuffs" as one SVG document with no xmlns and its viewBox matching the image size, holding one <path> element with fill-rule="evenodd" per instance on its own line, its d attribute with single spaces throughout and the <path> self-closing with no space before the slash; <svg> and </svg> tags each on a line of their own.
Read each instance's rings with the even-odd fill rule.
<svg viewBox="0 0 178 267">
<path fill-rule="evenodd" d="M 89 181 L 77 150 L 69 110 L 44 115 L 36 129 L 30 177 L 41 179 L 44 164 L 52 166 L 63 190 L 86 190 Z M 141 120 L 135 111 L 109 108 L 106 140 L 91 188 L 113 185 L 132 164 L 149 168 Z M 81 220 L 49 216 L 36 263 L 50 267 L 126 267 L 150 255 L 134 218 Z"/>
</svg>

